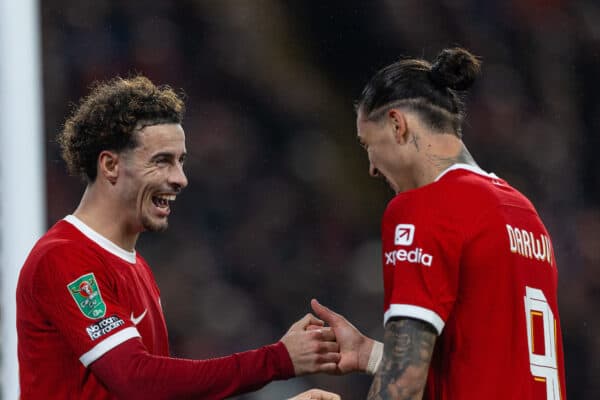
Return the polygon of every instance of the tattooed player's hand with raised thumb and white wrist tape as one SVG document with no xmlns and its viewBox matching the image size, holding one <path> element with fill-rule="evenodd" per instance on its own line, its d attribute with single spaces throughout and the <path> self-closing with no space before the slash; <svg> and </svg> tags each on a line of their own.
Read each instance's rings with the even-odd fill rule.
<svg viewBox="0 0 600 400">
<path fill-rule="evenodd" d="M 340 345 L 341 358 L 335 373 L 366 372 L 375 341 L 363 335 L 346 318 L 321 305 L 317 300 L 312 299 L 310 305 L 315 314 L 333 329 L 335 338 Z"/>
</svg>

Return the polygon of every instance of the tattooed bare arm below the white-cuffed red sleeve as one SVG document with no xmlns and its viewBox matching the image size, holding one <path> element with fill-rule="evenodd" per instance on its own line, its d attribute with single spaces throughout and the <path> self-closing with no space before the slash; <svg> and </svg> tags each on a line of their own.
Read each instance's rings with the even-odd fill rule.
<svg viewBox="0 0 600 400">
<path fill-rule="evenodd" d="M 369 400 L 421 400 L 437 334 L 431 324 L 411 318 L 385 326 L 383 359 Z"/>
</svg>

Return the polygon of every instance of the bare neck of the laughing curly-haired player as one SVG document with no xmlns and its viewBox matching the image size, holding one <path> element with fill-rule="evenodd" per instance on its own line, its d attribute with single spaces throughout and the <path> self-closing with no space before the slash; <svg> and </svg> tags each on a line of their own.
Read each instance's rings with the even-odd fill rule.
<svg viewBox="0 0 600 400">
<path fill-rule="evenodd" d="M 113 207 L 109 196 L 98 193 L 94 184 L 85 189 L 73 215 L 120 248 L 127 251 L 135 249 L 139 233 L 119 222 L 124 221 L 119 215 L 119 207 Z"/>
</svg>

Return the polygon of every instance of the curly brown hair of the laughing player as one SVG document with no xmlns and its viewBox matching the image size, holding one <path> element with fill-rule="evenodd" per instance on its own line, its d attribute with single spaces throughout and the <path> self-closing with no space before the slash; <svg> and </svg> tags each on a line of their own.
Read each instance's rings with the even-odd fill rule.
<svg viewBox="0 0 600 400">
<path fill-rule="evenodd" d="M 141 75 L 117 77 L 92 86 L 65 122 L 57 141 L 69 172 L 94 182 L 101 151 L 134 148 L 138 129 L 180 124 L 184 113 L 182 95 L 169 86 L 156 86 Z"/>
</svg>

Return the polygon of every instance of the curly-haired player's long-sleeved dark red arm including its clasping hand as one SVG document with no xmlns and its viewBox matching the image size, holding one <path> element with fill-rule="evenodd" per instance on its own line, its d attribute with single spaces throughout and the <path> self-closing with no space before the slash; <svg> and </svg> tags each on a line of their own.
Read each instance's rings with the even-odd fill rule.
<svg viewBox="0 0 600 400">
<path fill-rule="evenodd" d="M 139 339 L 128 340 L 90 365 L 94 375 L 119 398 L 222 399 L 256 390 L 275 379 L 335 369 L 338 345 L 327 328 L 308 314 L 277 344 L 209 360 L 149 354 Z"/>
</svg>

